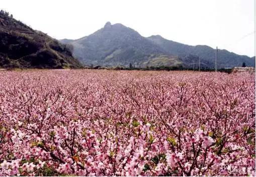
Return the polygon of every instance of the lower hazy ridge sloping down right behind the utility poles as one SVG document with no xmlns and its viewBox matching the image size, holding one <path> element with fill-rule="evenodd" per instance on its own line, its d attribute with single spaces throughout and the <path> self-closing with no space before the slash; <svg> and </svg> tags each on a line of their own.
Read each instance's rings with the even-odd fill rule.
<svg viewBox="0 0 256 177">
<path fill-rule="evenodd" d="M 209 46 L 189 46 L 182 43 L 177 43 L 174 41 L 166 40 L 159 35 L 150 36 L 147 39 L 154 42 L 160 46 L 167 54 L 179 56 L 182 59 L 188 58 L 188 56 L 198 56 L 204 63 L 208 65 L 209 68 L 215 66 L 215 52 L 216 50 Z M 227 50 L 218 49 L 218 58 L 217 58 L 217 67 L 226 68 L 226 67 L 235 67 L 242 66 L 244 62 L 246 66 L 255 67 L 255 59 L 249 58 L 247 56 L 237 55 L 233 52 L 228 52 Z M 189 61 L 188 61 L 189 62 Z M 186 63 L 187 65 L 192 64 Z"/>
</svg>

